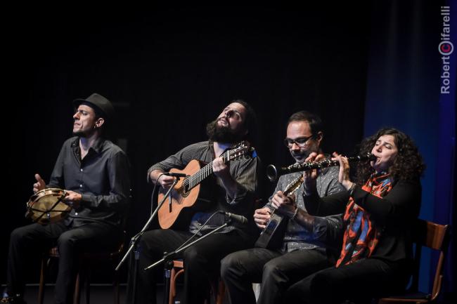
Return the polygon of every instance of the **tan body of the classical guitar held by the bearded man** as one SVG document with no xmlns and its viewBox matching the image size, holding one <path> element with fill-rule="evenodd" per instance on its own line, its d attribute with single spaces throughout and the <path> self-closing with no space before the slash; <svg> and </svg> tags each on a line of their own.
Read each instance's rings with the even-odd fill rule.
<svg viewBox="0 0 457 304">
<path fill-rule="evenodd" d="M 193 159 L 182 171 L 173 168 L 170 172 L 185 173 L 187 176 L 192 176 L 201 167 L 200 161 Z M 212 178 L 203 180 L 191 190 L 186 190 L 185 185 L 183 185 L 184 180 L 186 178 L 181 178 L 172 190 L 171 204 L 167 198 L 158 211 L 159 225 L 162 229 L 185 230 L 195 212 L 205 211 L 210 206 L 213 198 L 214 180 L 212 181 Z M 167 190 L 160 187 L 159 201 L 163 199 L 166 192 Z"/>
</svg>

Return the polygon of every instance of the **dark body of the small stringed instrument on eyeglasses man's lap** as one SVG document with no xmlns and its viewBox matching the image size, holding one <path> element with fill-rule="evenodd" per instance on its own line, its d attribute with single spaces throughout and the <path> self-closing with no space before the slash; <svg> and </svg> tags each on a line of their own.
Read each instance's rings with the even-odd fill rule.
<svg viewBox="0 0 457 304">
<path fill-rule="evenodd" d="M 255 246 L 259 248 L 278 249 L 283 244 L 288 219 L 279 214 L 271 214 L 268 225 L 260 234 Z"/>
</svg>

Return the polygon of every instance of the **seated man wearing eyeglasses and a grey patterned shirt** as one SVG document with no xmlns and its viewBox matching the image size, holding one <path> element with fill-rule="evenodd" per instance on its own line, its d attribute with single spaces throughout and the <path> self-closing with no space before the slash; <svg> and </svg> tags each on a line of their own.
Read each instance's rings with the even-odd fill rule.
<svg viewBox="0 0 457 304">
<path fill-rule="evenodd" d="M 287 137 L 284 144 L 297 163 L 304 162 L 311 152 L 322 153 L 322 121 L 316 115 L 300 111 L 288 120 Z M 264 229 L 269 223 L 274 205 L 288 201 L 297 209 L 304 209 L 301 185 L 295 192 L 285 195 L 284 191 L 301 172 L 281 176 L 276 190 L 262 209 L 257 209 L 254 219 L 257 227 Z M 338 168 L 323 168 L 316 180 L 319 196 L 340 192 L 344 188 L 338 183 Z M 276 213 L 281 213 L 277 210 Z M 256 303 L 252 283 L 262 283 L 257 304 L 281 303 L 285 289 L 307 273 L 330 267 L 326 249 L 313 244 L 313 236 L 295 222 L 296 213 L 283 214 L 288 218 L 282 244 L 279 248 L 253 248 L 231 253 L 221 262 L 221 277 L 224 279 L 231 303 Z M 331 291 L 329 291 L 331 292 Z"/>
</svg>

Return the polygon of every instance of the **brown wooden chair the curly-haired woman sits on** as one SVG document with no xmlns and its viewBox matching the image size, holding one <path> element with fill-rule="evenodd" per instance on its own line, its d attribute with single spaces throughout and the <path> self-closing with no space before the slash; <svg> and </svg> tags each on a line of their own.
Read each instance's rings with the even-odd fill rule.
<svg viewBox="0 0 457 304">
<path fill-rule="evenodd" d="M 411 287 L 406 293 L 381 298 L 378 304 L 391 303 L 432 303 L 439 296 L 443 280 L 443 265 L 449 245 L 449 225 L 439 225 L 425 220 L 418 220 L 413 229 L 413 242 L 416 243 L 414 254 L 414 272 Z M 432 291 L 418 291 L 420 253 L 422 246 L 439 251 L 439 260 L 435 267 L 435 279 Z"/>
</svg>

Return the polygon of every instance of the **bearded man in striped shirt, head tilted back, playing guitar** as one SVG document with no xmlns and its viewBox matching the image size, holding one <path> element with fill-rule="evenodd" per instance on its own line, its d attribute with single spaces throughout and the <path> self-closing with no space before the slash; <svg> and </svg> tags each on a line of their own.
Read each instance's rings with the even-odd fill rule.
<svg viewBox="0 0 457 304">
<path fill-rule="evenodd" d="M 210 178 L 214 185 L 210 186 L 214 197 L 204 211 L 198 211 L 181 230 L 162 229 L 150 230 L 143 234 L 140 242 L 139 284 L 137 286 L 137 303 L 156 303 L 154 272 L 163 273 L 163 265 L 143 271 L 145 267 L 163 257 L 165 251 L 177 249 L 195 232 L 199 238 L 215 227 L 226 222 L 224 214 L 212 214 L 215 211 L 227 211 L 252 219 L 254 212 L 255 192 L 257 190 L 257 172 L 259 160 L 257 157 L 238 157 L 228 163 L 224 162 L 221 154 L 241 140 L 248 139 L 255 131 L 255 113 L 250 105 L 243 100 L 233 100 L 227 105 L 214 121 L 207 124 L 207 135 L 210 140 L 184 147 L 181 151 L 164 161 L 151 166 L 148 180 L 168 189 L 174 177 L 162 173 L 172 168 L 184 169 L 193 159 L 205 163 L 212 162 Z M 205 185 L 201 185 L 200 190 Z M 206 189 L 208 190 L 208 189 Z M 168 203 L 164 207 L 168 210 Z M 173 208 L 173 206 L 172 206 Z M 212 217 L 211 217 L 212 216 Z M 159 215 L 160 221 L 160 215 Z M 184 295 L 181 303 L 203 303 L 208 291 L 208 282 L 212 277 L 219 277 L 221 258 L 233 251 L 252 246 L 257 237 L 257 229 L 251 225 L 228 225 L 220 232 L 211 234 L 193 246 L 186 249 L 181 258 L 184 260 Z M 174 226 L 172 227 L 174 228 Z M 200 229 L 201 228 L 201 229 Z"/>
</svg>

